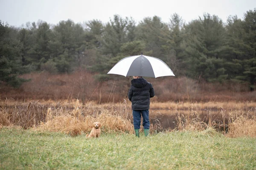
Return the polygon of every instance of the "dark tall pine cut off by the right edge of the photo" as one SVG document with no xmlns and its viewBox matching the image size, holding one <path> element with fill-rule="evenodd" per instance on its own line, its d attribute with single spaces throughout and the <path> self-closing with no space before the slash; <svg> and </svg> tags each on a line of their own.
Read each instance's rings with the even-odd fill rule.
<svg viewBox="0 0 256 170">
<path fill-rule="evenodd" d="M 233 80 L 249 82 L 250 91 L 256 79 L 256 9 L 247 11 L 244 20 L 236 16 L 228 19 L 229 45 L 227 71 Z"/>
</svg>

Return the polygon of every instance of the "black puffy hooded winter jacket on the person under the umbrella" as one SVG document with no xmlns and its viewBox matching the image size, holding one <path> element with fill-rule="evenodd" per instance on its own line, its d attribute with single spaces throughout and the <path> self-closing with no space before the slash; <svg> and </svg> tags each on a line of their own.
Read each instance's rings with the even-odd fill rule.
<svg viewBox="0 0 256 170">
<path fill-rule="evenodd" d="M 154 97 L 154 88 L 150 82 L 143 78 L 131 80 L 128 98 L 131 101 L 132 110 L 149 109 L 151 97 Z"/>
</svg>

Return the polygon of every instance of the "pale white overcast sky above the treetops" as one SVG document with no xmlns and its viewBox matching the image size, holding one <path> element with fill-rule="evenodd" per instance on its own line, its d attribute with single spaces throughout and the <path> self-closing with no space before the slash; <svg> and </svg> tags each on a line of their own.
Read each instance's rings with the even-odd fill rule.
<svg viewBox="0 0 256 170">
<path fill-rule="evenodd" d="M 229 15 L 243 19 L 244 13 L 256 8 L 256 0 L 0 0 L 0 20 L 21 26 L 39 19 L 57 24 L 71 19 L 75 23 L 101 20 L 107 23 L 114 14 L 133 17 L 161 17 L 168 23 L 173 13 L 189 22 L 204 13 L 218 15 L 226 22 Z"/>
</svg>

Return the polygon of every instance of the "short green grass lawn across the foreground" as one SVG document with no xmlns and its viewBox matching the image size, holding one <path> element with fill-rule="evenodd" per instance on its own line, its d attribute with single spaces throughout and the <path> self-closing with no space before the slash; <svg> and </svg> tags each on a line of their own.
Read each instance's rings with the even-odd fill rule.
<svg viewBox="0 0 256 170">
<path fill-rule="evenodd" d="M 84 135 L 0 130 L 1 169 L 256 169 L 256 139 L 218 133 Z"/>
</svg>

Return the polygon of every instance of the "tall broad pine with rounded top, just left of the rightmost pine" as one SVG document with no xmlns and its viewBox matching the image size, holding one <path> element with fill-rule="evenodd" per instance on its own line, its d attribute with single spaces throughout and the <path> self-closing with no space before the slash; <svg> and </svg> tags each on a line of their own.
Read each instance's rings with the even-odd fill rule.
<svg viewBox="0 0 256 170">
<path fill-rule="evenodd" d="M 215 15 L 204 14 L 204 18 L 193 20 L 185 26 L 183 64 L 187 75 L 196 75 L 208 81 L 223 81 L 227 78 L 224 68 L 225 29 Z"/>
</svg>

